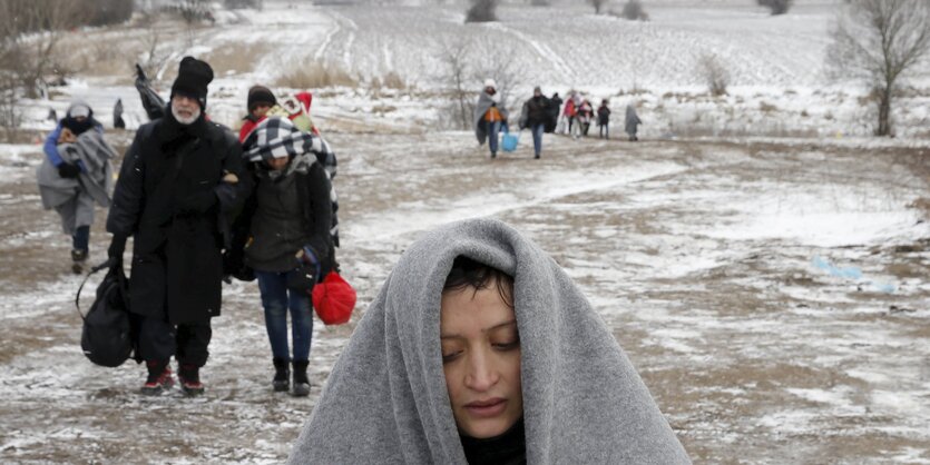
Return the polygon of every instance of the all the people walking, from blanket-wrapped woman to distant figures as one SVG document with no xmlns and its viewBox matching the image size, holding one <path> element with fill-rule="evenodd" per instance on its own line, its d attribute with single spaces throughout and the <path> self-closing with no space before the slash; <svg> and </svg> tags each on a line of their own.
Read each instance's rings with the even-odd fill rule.
<svg viewBox="0 0 930 465">
<path fill-rule="evenodd" d="M 212 80 L 208 63 L 180 61 L 170 100 L 136 132 L 112 197 L 112 149 L 90 107 L 74 102 L 46 144 L 42 201 L 72 236 L 76 270 L 88 255 L 92 202 L 109 206 L 110 267 L 121 269 L 134 238 L 129 298 L 148 370 L 143 394 L 172 387 L 172 357 L 182 389 L 204 392 L 211 319 L 223 278 L 233 276 L 257 279 L 272 388 L 306 396 L 310 293 L 337 268 L 335 156 L 310 119 L 310 93 L 278 99 L 253 87 L 236 137 L 206 115 Z M 476 121 L 495 157 L 509 115 L 495 82 L 484 83 Z M 559 100 L 537 87 L 523 105 L 519 126 L 531 131 L 536 158 Z M 584 101 L 578 108 L 588 111 Z M 567 123 L 586 122 L 576 113 Z M 291 463 L 689 463 L 588 300 L 510 226 L 472 219 L 430 231 L 390 276 Z"/>
</svg>

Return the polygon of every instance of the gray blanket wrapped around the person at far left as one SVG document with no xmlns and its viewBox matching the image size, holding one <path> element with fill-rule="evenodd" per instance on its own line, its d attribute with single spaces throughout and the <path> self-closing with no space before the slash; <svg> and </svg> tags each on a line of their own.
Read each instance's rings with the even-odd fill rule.
<svg viewBox="0 0 930 465">
<path fill-rule="evenodd" d="M 71 199 L 78 189 L 84 189 L 101 207 L 109 207 L 112 192 L 112 162 L 116 151 L 104 139 L 104 135 L 89 130 L 80 136 L 75 144 L 58 146 L 61 159 L 68 162 L 80 160 L 86 171 L 75 178 L 58 176 L 56 168 L 48 158 L 36 169 L 36 180 L 39 184 L 39 195 L 46 209 L 58 207 Z"/>
</svg>

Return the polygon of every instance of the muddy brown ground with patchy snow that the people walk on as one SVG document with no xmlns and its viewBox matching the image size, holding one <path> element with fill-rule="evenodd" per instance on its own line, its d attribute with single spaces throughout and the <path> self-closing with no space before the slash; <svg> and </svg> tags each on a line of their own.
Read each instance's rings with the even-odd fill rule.
<svg viewBox="0 0 930 465">
<path fill-rule="evenodd" d="M 225 288 L 205 396 L 145 398 L 141 367 L 91 366 L 38 148 L 0 157 L 0 461 L 281 462 L 403 249 L 492 215 L 583 287 L 696 463 L 930 463 L 930 228 L 908 207 L 930 196 L 894 162 L 919 150 L 558 138 L 492 161 L 466 133 L 331 142 L 360 310 L 316 323 L 306 399 L 270 388 L 254 284 Z"/>
</svg>

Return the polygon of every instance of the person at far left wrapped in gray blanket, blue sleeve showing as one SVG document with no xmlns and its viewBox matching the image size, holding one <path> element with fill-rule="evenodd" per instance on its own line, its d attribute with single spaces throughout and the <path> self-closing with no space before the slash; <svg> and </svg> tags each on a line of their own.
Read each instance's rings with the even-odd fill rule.
<svg viewBox="0 0 930 465">
<path fill-rule="evenodd" d="M 61 217 L 61 228 L 71 236 L 71 270 L 79 274 L 89 253 L 94 204 L 110 206 L 116 151 L 104 140 L 94 110 L 80 100 L 48 135 L 43 150 L 46 159 L 36 171 L 42 207 Z"/>
</svg>

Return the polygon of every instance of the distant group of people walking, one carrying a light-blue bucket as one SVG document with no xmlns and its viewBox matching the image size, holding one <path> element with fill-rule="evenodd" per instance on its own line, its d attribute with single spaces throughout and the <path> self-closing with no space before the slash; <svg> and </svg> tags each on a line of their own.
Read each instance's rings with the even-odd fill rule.
<svg viewBox="0 0 930 465">
<path fill-rule="evenodd" d="M 523 102 L 519 129 L 530 130 L 533 158 L 537 159 L 541 155 L 542 135 L 546 132 L 568 135 L 578 139 L 579 137 L 587 137 L 591 122 L 596 122 L 598 138 L 609 139 L 611 113 L 609 103 L 608 99 L 603 99 L 600 106 L 595 110 L 589 99 L 581 97 L 574 90 L 562 101 L 558 92 L 547 98 L 537 86 L 532 90 L 532 97 Z M 486 80 L 484 88 L 474 106 L 473 122 L 478 142 L 483 145 L 486 140 L 488 141 L 491 158 L 497 158 L 500 132 L 508 132 L 509 130 L 508 117 L 509 112 L 500 98 L 495 80 Z M 636 132 L 640 123 L 643 121 L 637 116 L 636 108 L 628 105 L 624 129 L 630 141 L 639 140 Z"/>
</svg>

